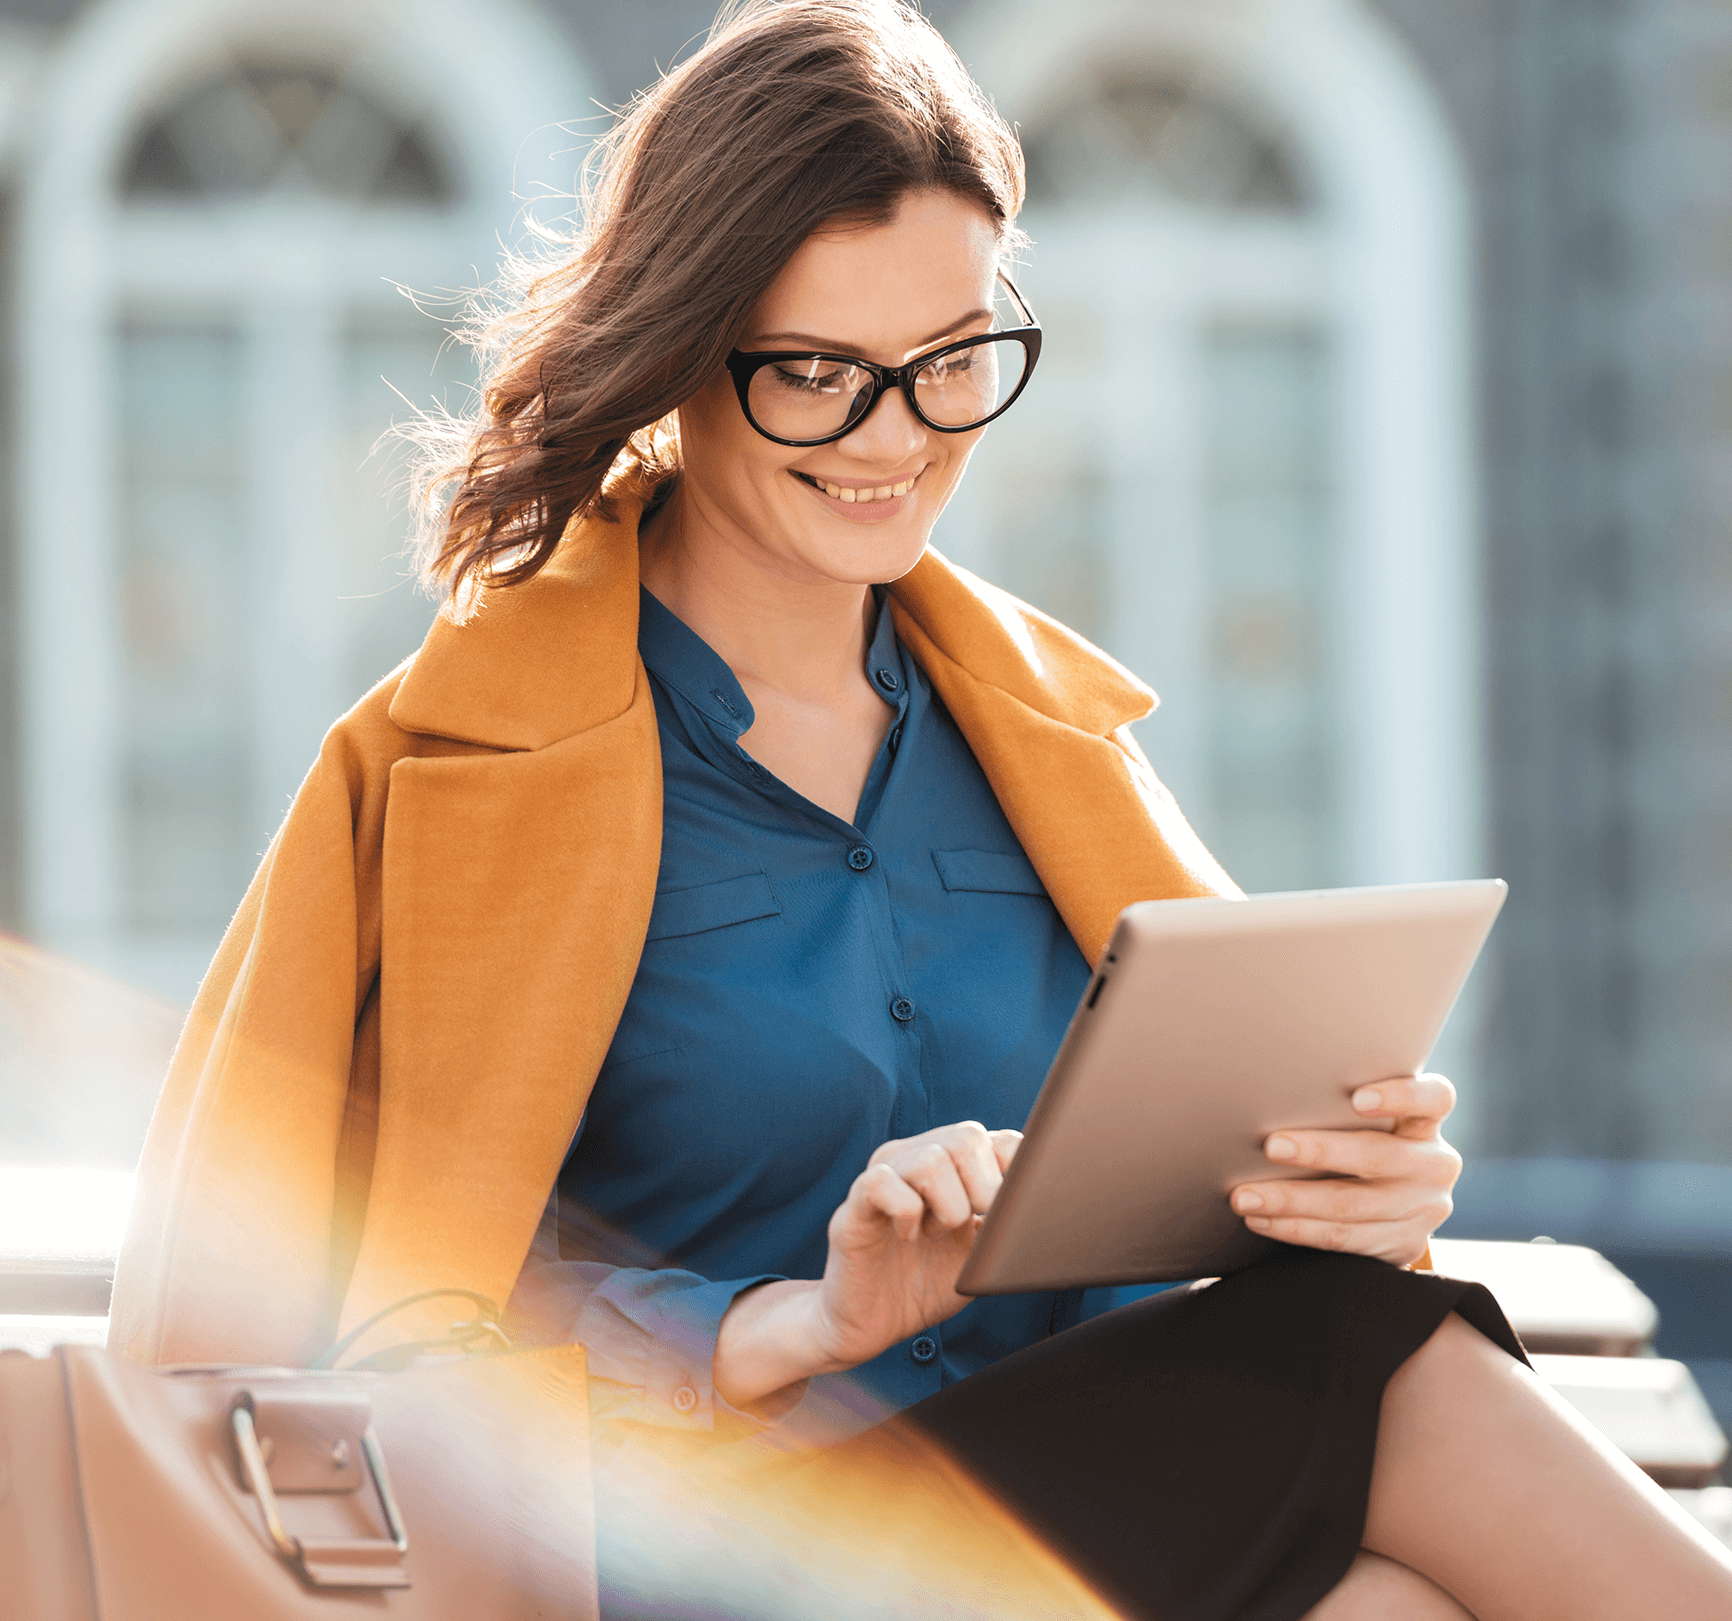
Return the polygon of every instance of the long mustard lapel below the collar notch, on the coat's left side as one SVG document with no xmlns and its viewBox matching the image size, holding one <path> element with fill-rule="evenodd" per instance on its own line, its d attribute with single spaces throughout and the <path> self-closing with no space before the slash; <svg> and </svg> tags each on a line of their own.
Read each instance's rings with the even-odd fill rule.
<svg viewBox="0 0 1732 1621">
<path fill-rule="evenodd" d="M 454 1280 L 511 1294 L 650 927 L 648 686 L 547 748 L 398 760 L 390 805 L 379 1126 L 345 1328 Z"/>
</svg>

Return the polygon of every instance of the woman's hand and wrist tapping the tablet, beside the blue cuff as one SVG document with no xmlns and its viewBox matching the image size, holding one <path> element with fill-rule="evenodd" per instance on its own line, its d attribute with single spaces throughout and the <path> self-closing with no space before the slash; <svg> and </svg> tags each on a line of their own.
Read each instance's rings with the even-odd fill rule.
<svg viewBox="0 0 1732 1621">
<path fill-rule="evenodd" d="M 746 1406 L 961 1311 L 956 1278 L 1020 1141 L 963 1120 L 878 1148 L 830 1217 L 824 1276 L 766 1283 L 727 1309 L 715 1389 Z"/>
</svg>

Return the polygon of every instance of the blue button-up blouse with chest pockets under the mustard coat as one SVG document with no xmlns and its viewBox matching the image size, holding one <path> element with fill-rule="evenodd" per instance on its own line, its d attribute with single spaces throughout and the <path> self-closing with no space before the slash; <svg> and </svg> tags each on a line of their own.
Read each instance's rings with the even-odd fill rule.
<svg viewBox="0 0 1732 1621">
<path fill-rule="evenodd" d="M 591 1373 L 634 1392 L 627 1417 L 708 1429 L 734 1295 L 823 1275 L 830 1216 L 880 1143 L 1020 1127 L 1089 966 L 882 606 L 866 674 L 890 726 L 852 823 L 740 746 L 745 691 L 648 592 L 637 644 L 662 734 L 662 868 L 558 1200 L 660 1264 L 566 1261 L 532 1287 L 544 1320 L 556 1292 Z M 973 1301 L 847 1379 L 902 1408 L 1108 1304 Z"/>
</svg>

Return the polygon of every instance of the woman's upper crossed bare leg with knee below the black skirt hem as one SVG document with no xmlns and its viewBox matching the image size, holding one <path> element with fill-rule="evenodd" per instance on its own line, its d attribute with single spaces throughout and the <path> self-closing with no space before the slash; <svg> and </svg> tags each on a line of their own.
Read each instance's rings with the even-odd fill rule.
<svg viewBox="0 0 1732 1621">
<path fill-rule="evenodd" d="M 1384 1392 L 1365 1547 L 1479 1621 L 1732 1616 L 1732 1550 L 1453 1313 Z"/>
</svg>

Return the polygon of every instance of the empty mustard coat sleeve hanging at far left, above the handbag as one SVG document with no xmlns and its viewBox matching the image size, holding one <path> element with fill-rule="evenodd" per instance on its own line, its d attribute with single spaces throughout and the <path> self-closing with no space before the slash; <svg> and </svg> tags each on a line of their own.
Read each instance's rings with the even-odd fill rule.
<svg viewBox="0 0 1732 1621">
<path fill-rule="evenodd" d="M 114 1278 L 109 1346 L 137 1361 L 305 1365 L 331 1337 L 378 1089 L 393 688 L 326 738 L 187 1017 Z"/>
</svg>

